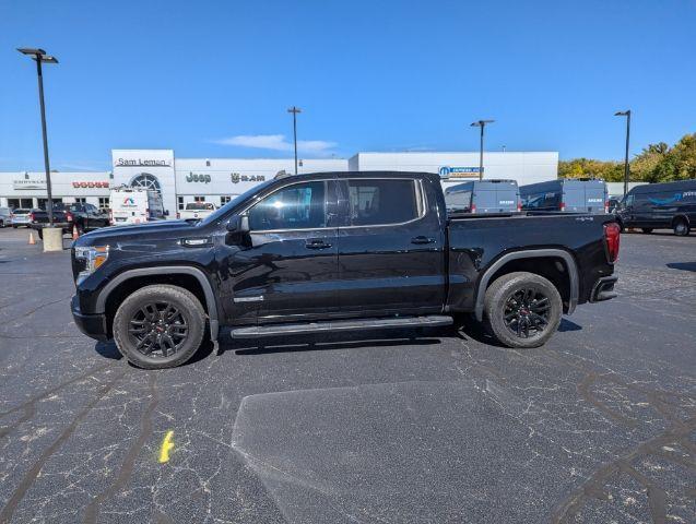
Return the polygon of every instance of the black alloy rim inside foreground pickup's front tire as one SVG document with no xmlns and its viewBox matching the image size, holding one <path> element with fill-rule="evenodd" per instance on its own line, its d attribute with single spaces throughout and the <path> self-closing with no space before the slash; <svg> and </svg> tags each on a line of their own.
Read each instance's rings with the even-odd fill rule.
<svg viewBox="0 0 696 524">
<path fill-rule="evenodd" d="M 135 349 L 149 357 L 170 357 L 186 343 L 189 326 L 184 312 L 168 301 L 141 306 L 130 319 L 128 333 Z"/>
</svg>

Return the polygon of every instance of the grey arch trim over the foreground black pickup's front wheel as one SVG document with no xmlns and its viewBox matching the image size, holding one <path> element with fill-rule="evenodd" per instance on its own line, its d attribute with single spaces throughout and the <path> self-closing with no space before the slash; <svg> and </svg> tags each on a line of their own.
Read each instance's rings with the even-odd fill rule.
<svg viewBox="0 0 696 524">
<path fill-rule="evenodd" d="M 109 297 L 113 297 L 114 294 L 118 294 L 118 290 L 123 289 L 125 286 L 127 287 L 129 282 L 134 283 L 142 279 L 143 277 L 148 277 L 148 284 L 162 284 L 163 282 L 161 279 L 163 277 L 166 278 L 175 275 L 186 275 L 192 278 L 200 286 L 200 293 L 196 293 L 196 289 L 190 289 L 190 286 L 180 285 L 180 287 L 193 291 L 199 300 L 202 298 L 201 301 L 203 302 L 203 307 L 205 309 L 205 312 L 208 313 L 210 323 L 210 337 L 212 341 L 216 341 L 217 333 L 220 331 L 220 317 L 213 286 L 205 276 L 205 273 L 194 266 L 168 265 L 162 267 L 139 267 L 119 273 L 111 281 L 109 281 L 108 284 L 104 286 L 104 289 L 102 289 L 102 291 L 99 293 L 96 300 L 96 312 L 108 314 Z M 176 282 L 172 284 L 177 285 Z"/>
</svg>

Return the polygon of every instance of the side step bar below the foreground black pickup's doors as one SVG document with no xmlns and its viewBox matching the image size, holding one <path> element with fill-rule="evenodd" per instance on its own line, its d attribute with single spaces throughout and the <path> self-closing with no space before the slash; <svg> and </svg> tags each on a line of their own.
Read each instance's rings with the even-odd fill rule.
<svg viewBox="0 0 696 524">
<path fill-rule="evenodd" d="M 260 338 L 272 335 L 296 335 L 304 333 L 327 333 L 335 331 L 378 330 L 384 327 L 432 327 L 451 325 L 451 317 L 394 317 L 388 319 L 334 320 L 306 322 L 302 324 L 271 324 L 253 327 L 237 327 L 229 334 L 233 338 Z"/>
</svg>

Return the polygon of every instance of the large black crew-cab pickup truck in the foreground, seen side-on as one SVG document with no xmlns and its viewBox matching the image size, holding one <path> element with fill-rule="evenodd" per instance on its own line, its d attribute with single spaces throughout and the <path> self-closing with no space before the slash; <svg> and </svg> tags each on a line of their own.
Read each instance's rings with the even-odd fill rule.
<svg viewBox="0 0 696 524">
<path fill-rule="evenodd" d="M 470 312 L 536 347 L 613 298 L 612 215 L 447 215 L 437 175 L 270 180 L 197 223 L 111 227 L 72 247 L 75 324 L 134 365 L 188 360 L 205 333 L 260 337 L 447 325 Z"/>
</svg>

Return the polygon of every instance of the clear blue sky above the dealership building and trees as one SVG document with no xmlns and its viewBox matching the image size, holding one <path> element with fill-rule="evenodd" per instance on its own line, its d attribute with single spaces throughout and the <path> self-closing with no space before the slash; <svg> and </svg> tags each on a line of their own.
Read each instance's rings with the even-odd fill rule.
<svg viewBox="0 0 696 524">
<path fill-rule="evenodd" d="M 0 0 L 0 170 L 50 155 L 107 169 L 110 148 L 179 157 L 486 150 L 622 158 L 696 131 L 696 2 Z"/>
</svg>

